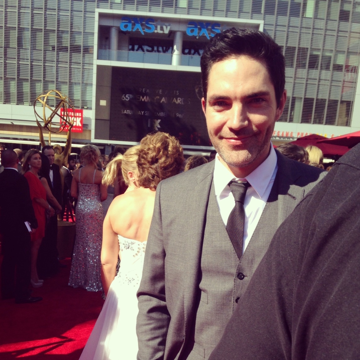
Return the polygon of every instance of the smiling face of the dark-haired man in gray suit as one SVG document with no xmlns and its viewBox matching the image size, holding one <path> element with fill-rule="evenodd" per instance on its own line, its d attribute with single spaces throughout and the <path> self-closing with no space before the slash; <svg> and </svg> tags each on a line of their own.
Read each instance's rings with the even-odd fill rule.
<svg viewBox="0 0 360 360">
<path fill-rule="evenodd" d="M 269 72 L 259 60 L 240 55 L 212 65 L 202 107 L 213 147 L 235 176 L 250 174 L 269 155 L 285 100 L 284 91 L 277 106 Z"/>
</svg>

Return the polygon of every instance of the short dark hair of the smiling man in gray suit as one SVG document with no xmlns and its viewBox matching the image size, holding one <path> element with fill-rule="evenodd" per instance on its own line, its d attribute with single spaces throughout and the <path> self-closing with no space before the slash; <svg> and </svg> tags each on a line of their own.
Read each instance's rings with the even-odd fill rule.
<svg viewBox="0 0 360 360">
<path fill-rule="evenodd" d="M 274 85 L 276 104 L 285 88 L 285 59 L 282 49 L 269 35 L 257 30 L 231 28 L 217 33 L 201 56 L 201 81 L 206 100 L 210 69 L 214 63 L 240 55 L 247 55 L 266 64 Z"/>
</svg>

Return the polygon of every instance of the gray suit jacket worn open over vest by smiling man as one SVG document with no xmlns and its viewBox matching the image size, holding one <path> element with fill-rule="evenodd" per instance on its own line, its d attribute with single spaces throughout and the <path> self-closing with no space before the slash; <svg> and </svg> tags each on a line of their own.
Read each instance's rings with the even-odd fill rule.
<svg viewBox="0 0 360 360">
<path fill-rule="evenodd" d="M 277 156 L 278 172 L 273 185 L 276 188 L 272 189 L 255 230 L 267 238 L 260 237 L 266 242 L 266 249 L 279 225 L 326 174 L 278 152 Z M 188 341 L 199 288 L 213 170 L 214 162 L 210 162 L 161 181 L 157 188 L 138 291 L 139 360 L 178 359 Z M 255 268 L 261 258 L 256 259 Z M 216 324 L 216 319 L 209 319 L 211 324 Z"/>
</svg>

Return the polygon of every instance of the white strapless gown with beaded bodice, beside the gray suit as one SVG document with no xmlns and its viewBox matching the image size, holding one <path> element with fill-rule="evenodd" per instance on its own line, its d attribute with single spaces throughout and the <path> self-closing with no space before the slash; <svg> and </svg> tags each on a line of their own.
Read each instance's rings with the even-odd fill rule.
<svg viewBox="0 0 360 360">
<path fill-rule="evenodd" d="M 146 241 L 118 235 L 120 270 L 110 285 L 103 309 L 80 360 L 136 360 L 138 338 L 138 291 L 143 273 Z"/>
</svg>

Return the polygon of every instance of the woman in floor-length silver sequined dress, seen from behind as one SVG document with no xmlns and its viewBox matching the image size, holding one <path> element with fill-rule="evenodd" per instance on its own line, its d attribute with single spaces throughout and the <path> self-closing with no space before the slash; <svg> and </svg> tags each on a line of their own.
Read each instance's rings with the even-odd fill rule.
<svg viewBox="0 0 360 360">
<path fill-rule="evenodd" d="M 104 212 L 101 202 L 107 198 L 102 185 L 102 171 L 97 170 L 99 149 L 81 148 L 80 167 L 73 174 L 71 196 L 77 198 L 76 238 L 72 255 L 69 285 L 87 291 L 101 291 L 101 244 Z"/>
</svg>

